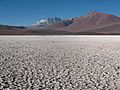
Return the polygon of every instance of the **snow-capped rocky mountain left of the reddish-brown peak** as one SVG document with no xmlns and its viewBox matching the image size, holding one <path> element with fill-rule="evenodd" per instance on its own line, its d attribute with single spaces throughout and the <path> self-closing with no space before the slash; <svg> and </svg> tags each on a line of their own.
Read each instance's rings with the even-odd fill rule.
<svg viewBox="0 0 120 90">
<path fill-rule="evenodd" d="M 68 26 L 72 23 L 72 19 L 61 19 L 58 17 L 51 17 L 38 21 L 32 25 L 32 29 L 56 29 Z"/>
</svg>

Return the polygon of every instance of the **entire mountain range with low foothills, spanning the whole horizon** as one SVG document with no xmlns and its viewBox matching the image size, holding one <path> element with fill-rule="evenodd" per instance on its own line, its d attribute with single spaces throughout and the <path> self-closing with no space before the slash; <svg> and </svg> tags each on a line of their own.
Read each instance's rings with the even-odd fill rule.
<svg viewBox="0 0 120 90">
<path fill-rule="evenodd" d="M 96 11 L 68 19 L 51 17 L 27 27 L 0 25 L 0 35 L 120 35 L 120 17 Z"/>
</svg>

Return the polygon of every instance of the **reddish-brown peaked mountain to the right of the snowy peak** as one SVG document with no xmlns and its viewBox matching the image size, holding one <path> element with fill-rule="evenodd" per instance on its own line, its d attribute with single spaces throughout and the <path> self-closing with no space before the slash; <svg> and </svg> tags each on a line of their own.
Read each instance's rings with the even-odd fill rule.
<svg viewBox="0 0 120 90">
<path fill-rule="evenodd" d="M 73 23 L 61 30 L 70 32 L 83 32 L 120 23 L 120 18 L 110 14 L 92 12 L 86 16 L 73 18 Z"/>
</svg>

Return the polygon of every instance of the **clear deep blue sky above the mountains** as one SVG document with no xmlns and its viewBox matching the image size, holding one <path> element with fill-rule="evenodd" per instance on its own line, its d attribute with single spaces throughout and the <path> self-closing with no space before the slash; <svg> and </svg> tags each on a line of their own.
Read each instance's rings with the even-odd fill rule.
<svg viewBox="0 0 120 90">
<path fill-rule="evenodd" d="M 48 17 L 99 11 L 120 16 L 120 0 L 0 0 L 0 24 L 31 25 Z"/>
</svg>

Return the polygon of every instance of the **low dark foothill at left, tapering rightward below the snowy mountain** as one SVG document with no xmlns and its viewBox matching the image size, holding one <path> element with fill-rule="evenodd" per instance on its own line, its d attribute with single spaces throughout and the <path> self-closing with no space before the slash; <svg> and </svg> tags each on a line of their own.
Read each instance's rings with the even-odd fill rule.
<svg viewBox="0 0 120 90">
<path fill-rule="evenodd" d="M 28 30 L 22 26 L 0 25 L 0 35 L 70 35 L 67 31 L 57 30 Z"/>
</svg>

